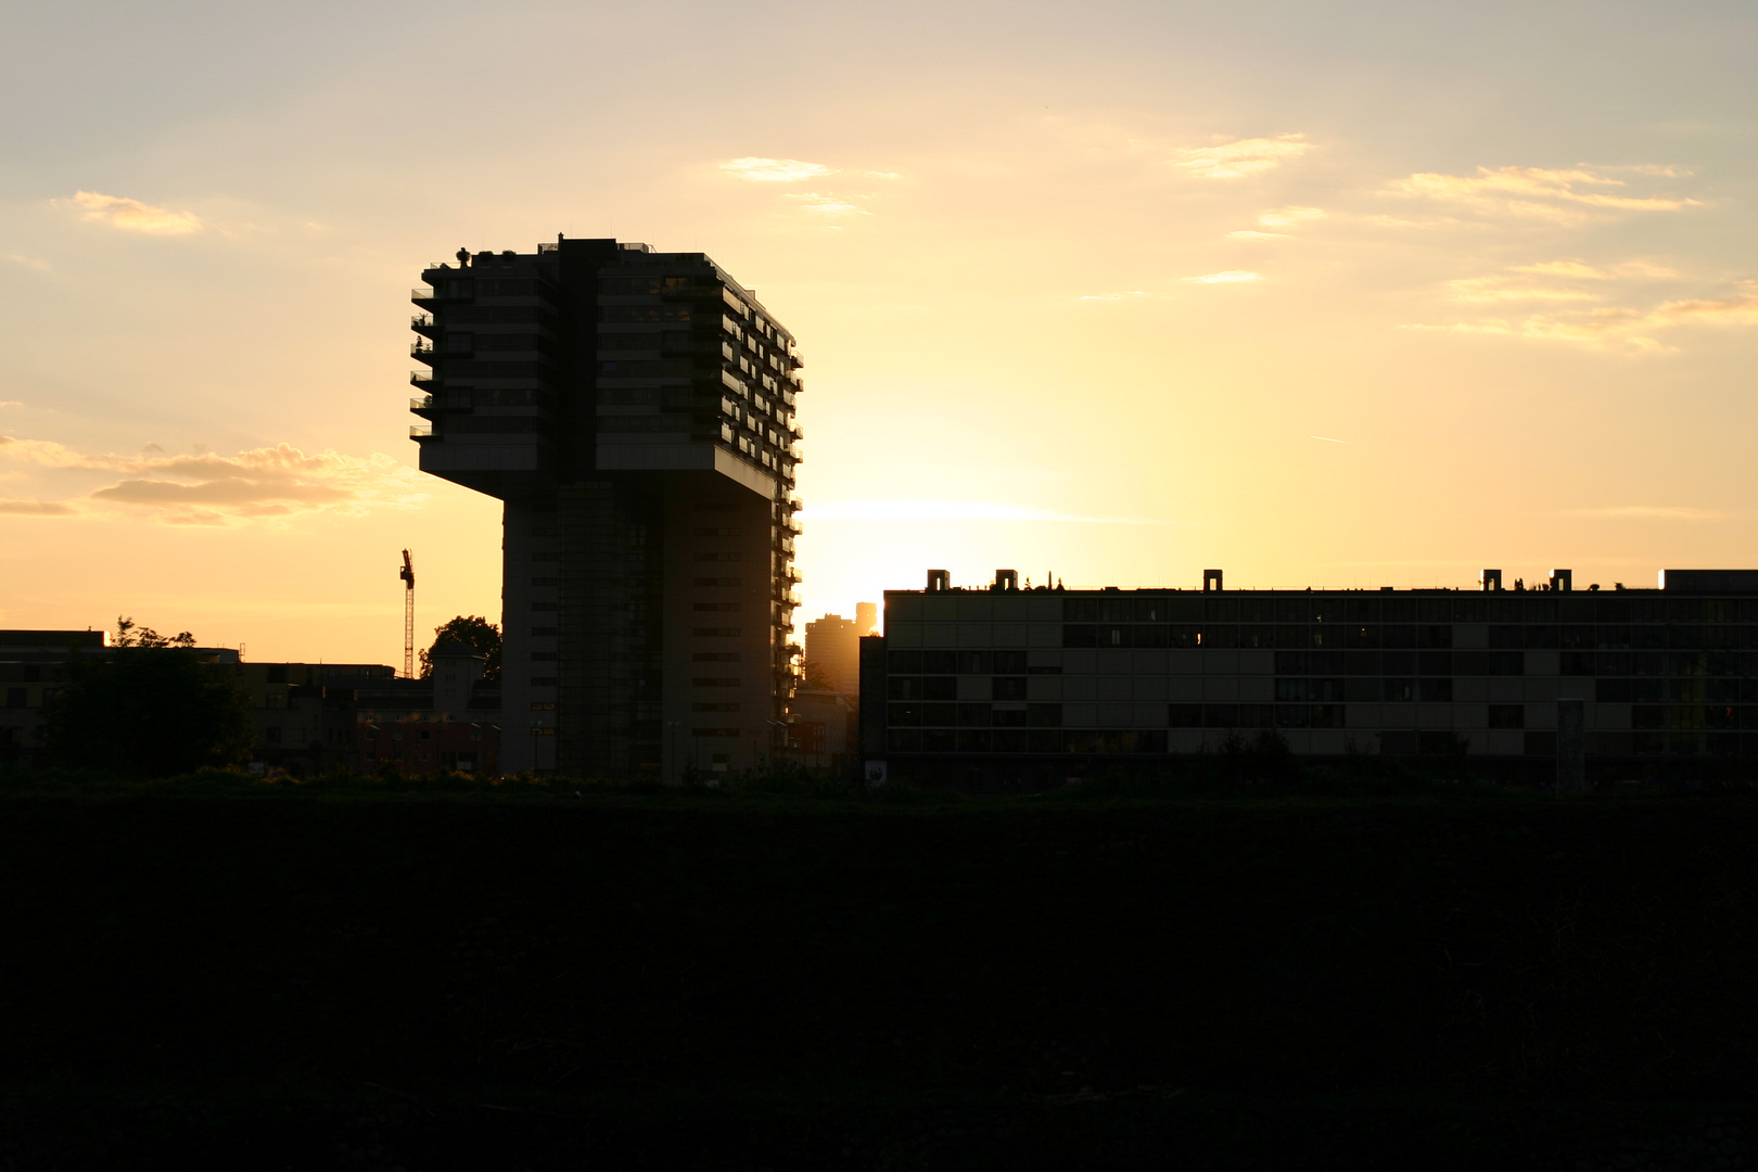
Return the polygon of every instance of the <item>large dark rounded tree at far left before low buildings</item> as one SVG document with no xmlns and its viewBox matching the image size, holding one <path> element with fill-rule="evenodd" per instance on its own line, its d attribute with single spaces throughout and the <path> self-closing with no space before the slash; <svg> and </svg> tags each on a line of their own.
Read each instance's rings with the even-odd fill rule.
<svg viewBox="0 0 1758 1172">
<path fill-rule="evenodd" d="M 188 631 L 165 638 L 116 622 L 107 655 L 74 655 L 69 680 L 44 705 L 56 764 L 171 777 L 250 759 L 257 742 L 237 673 L 204 659 Z"/>
</svg>

